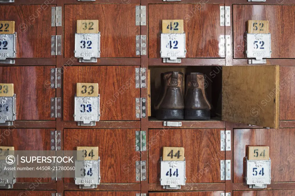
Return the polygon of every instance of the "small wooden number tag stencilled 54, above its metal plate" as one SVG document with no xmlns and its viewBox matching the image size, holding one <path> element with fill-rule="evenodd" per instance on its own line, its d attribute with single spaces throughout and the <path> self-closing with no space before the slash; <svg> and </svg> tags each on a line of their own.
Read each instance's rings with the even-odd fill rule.
<svg viewBox="0 0 295 196">
<path fill-rule="evenodd" d="M 269 160 L 268 146 L 249 146 L 248 160 Z"/>
</svg>

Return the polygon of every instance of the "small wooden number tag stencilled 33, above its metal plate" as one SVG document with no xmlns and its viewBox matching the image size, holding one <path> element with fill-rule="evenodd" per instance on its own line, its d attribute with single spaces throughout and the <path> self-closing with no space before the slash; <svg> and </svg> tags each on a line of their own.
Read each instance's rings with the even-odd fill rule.
<svg viewBox="0 0 295 196">
<path fill-rule="evenodd" d="M 77 83 L 77 97 L 97 97 L 98 83 Z"/>
</svg>

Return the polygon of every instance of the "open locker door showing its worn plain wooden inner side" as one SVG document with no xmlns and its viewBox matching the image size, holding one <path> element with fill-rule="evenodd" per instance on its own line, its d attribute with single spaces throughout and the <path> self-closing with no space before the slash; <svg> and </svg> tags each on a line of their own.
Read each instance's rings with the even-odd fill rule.
<svg viewBox="0 0 295 196">
<path fill-rule="evenodd" d="M 279 128 L 278 65 L 222 68 L 222 120 Z"/>
</svg>

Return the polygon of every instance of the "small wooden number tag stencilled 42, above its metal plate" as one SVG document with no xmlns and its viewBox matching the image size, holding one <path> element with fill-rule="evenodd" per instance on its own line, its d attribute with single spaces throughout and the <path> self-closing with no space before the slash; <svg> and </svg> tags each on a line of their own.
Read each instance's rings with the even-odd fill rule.
<svg viewBox="0 0 295 196">
<path fill-rule="evenodd" d="M 183 20 L 162 20 L 162 33 L 183 33 Z"/>
</svg>

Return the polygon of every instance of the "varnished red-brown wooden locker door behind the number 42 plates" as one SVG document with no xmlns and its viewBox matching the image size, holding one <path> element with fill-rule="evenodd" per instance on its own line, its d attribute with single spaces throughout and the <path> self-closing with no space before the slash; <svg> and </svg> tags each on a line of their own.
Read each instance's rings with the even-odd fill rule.
<svg viewBox="0 0 295 196">
<path fill-rule="evenodd" d="M 183 19 L 186 33 L 186 58 L 220 57 L 219 40 L 222 4 L 150 4 L 149 58 L 160 58 L 160 31 L 163 19 Z M 223 4 L 224 5 L 224 4 Z"/>
</svg>

